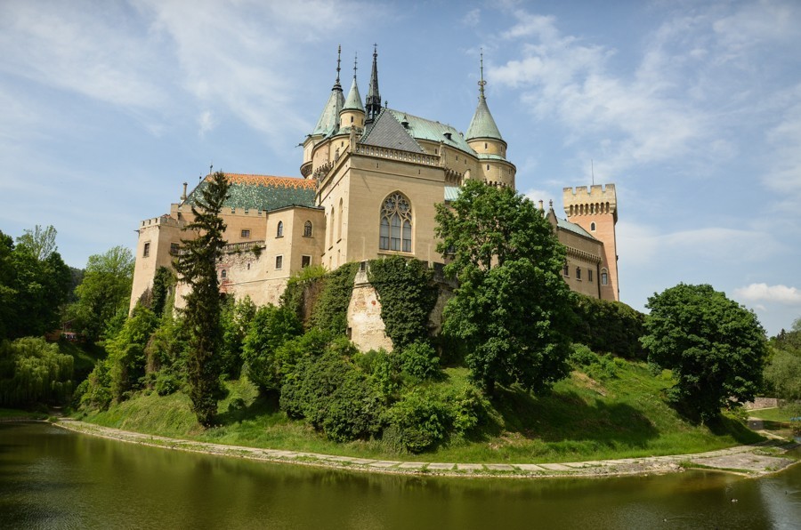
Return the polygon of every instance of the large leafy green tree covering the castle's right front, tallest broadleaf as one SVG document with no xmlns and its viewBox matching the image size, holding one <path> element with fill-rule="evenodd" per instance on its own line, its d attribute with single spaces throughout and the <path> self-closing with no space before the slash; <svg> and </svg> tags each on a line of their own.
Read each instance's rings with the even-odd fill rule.
<svg viewBox="0 0 801 530">
<path fill-rule="evenodd" d="M 437 205 L 437 251 L 458 286 L 443 331 L 465 341 L 471 377 L 490 395 L 518 382 L 550 388 L 569 371 L 570 289 L 564 247 L 542 213 L 511 188 L 467 181 Z"/>
</svg>

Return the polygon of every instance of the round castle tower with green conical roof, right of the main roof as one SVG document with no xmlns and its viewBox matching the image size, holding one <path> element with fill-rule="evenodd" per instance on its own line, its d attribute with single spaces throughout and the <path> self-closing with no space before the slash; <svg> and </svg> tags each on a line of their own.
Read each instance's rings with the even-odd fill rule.
<svg viewBox="0 0 801 530">
<path fill-rule="evenodd" d="M 496 186 L 514 188 L 515 167 L 506 160 L 506 141 L 498 131 L 484 97 L 484 54 L 481 53 L 481 80 L 479 81 L 479 102 L 473 119 L 467 127 L 465 140 L 478 155 L 481 162 L 483 180 Z"/>
</svg>

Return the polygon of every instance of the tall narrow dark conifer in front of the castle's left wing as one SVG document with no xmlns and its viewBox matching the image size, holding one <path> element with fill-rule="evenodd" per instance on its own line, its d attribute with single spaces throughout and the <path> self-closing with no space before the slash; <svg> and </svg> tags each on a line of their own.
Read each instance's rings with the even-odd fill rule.
<svg viewBox="0 0 801 530">
<path fill-rule="evenodd" d="M 181 240 L 182 252 L 175 261 L 180 279 L 190 287 L 183 309 L 189 332 L 187 382 L 192 411 L 204 426 L 212 424 L 217 401 L 224 396 L 219 377 L 218 353 L 223 333 L 216 262 L 225 245 L 225 223 L 220 212 L 229 188 L 223 172 L 214 173 L 205 182 L 197 203 L 192 205 L 194 221 L 184 228 L 194 237 Z"/>
</svg>

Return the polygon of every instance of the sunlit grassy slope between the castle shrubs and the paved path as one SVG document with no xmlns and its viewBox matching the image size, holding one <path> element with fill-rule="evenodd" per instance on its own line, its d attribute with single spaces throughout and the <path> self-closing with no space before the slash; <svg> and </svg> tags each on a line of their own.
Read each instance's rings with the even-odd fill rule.
<svg viewBox="0 0 801 530">
<path fill-rule="evenodd" d="M 178 392 L 140 394 L 106 412 L 80 413 L 87 422 L 174 438 L 292 449 L 370 458 L 437 462 L 570 462 L 644 455 L 688 454 L 748 444 L 762 438 L 740 419 L 724 415 L 710 430 L 684 421 L 669 408 L 662 391 L 670 373 L 654 376 L 643 363 L 599 357 L 558 382 L 546 397 L 521 389 L 499 389 L 493 408 L 465 438 L 451 438 L 435 450 L 399 455 L 381 440 L 336 443 L 305 421 L 279 411 L 275 397 L 260 397 L 247 380 L 230 381 L 220 403 L 220 425 L 203 430 Z M 465 368 L 447 368 L 433 385 L 459 386 Z"/>
</svg>

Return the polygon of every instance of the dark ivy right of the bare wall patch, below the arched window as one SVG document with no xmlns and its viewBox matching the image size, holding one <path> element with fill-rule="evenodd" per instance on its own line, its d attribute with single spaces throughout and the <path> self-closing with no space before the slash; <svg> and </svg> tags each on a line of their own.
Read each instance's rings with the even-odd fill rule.
<svg viewBox="0 0 801 530">
<path fill-rule="evenodd" d="M 368 280 L 378 293 L 381 318 L 394 349 L 425 341 L 438 293 L 432 269 L 424 261 L 394 256 L 370 261 Z"/>
</svg>

